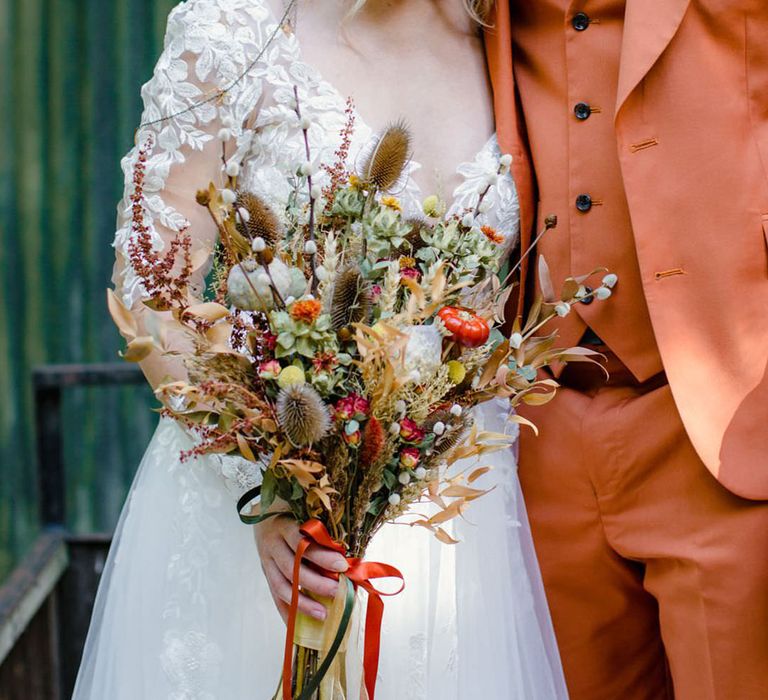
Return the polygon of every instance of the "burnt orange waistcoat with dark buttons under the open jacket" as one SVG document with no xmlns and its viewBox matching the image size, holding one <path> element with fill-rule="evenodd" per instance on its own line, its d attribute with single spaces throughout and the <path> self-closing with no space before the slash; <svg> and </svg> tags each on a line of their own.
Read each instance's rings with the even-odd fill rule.
<svg viewBox="0 0 768 700">
<path fill-rule="evenodd" d="M 620 280 L 610 303 L 578 304 L 552 327 L 571 346 L 590 326 L 637 379 L 647 379 L 661 371 L 661 358 L 640 282 L 613 127 L 625 0 L 589 2 L 590 16 L 598 21 L 581 32 L 566 29 L 570 0 L 510 4 L 515 77 L 538 184 L 535 228 L 547 215 L 558 219 L 538 254 L 547 260 L 556 289 L 566 277 L 597 265 Z M 589 211 L 576 207 L 579 195 L 591 198 Z"/>
</svg>

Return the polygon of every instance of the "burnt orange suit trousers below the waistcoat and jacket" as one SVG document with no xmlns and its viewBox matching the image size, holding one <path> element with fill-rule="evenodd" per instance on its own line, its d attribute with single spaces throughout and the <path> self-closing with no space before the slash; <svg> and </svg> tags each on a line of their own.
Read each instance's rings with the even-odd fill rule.
<svg viewBox="0 0 768 700">
<path fill-rule="evenodd" d="M 768 502 L 707 471 L 663 375 L 610 362 L 608 384 L 571 366 L 520 411 L 540 429 L 520 479 L 571 700 L 765 700 Z"/>
</svg>

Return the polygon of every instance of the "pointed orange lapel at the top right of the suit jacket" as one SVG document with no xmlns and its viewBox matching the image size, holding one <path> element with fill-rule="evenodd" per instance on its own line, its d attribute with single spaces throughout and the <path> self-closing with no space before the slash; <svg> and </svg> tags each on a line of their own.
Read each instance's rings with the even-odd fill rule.
<svg viewBox="0 0 768 700">
<path fill-rule="evenodd" d="M 690 2 L 627 0 L 616 114 L 672 41 Z"/>
</svg>

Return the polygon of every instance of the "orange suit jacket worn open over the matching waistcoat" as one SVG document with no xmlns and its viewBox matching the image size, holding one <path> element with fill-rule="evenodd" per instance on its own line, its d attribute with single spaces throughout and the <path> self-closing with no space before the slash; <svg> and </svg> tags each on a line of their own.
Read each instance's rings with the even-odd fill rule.
<svg viewBox="0 0 768 700">
<path fill-rule="evenodd" d="M 525 249 L 536 185 L 508 1 L 485 40 Z M 750 499 L 768 499 L 766 37 L 768 0 L 627 0 L 615 107 L 643 290 L 671 390 L 702 461 Z"/>
</svg>

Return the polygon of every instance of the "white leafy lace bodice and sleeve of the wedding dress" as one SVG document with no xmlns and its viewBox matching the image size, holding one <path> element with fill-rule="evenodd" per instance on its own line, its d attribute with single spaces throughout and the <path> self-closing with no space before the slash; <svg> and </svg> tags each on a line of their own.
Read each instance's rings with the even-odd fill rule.
<svg viewBox="0 0 768 700">
<path fill-rule="evenodd" d="M 142 88 L 145 108 L 136 146 L 122 161 L 125 193 L 118 207 L 113 281 L 129 308 L 144 296 L 127 254 L 142 147 L 151 143 L 144 165 L 144 224 L 159 249 L 189 226 L 195 260 L 205 260 L 200 252 L 212 250 L 216 235 L 207 213 L 195 202 L 195 192 L 209 181 L 220 183 L 228 166 L 238 169 L 245 189 L 261 195 L 276 211 L 283 210 L 293 192 L 290 179 L 306 159 L 293 108 L 296 93 L 302 116 L 311 123 L 313 157 L 334 161 L 347 118 L 347 96 L 302 60 L 296 37 L 279 20 L 263 0 L 188 0 L 171 12 L 163 53 Z M 364 116 L 355 114 L 350 168 L 373 136 Z M 418 144 L 416 148 L 418 152 Z M 490 209 L 481 214 L 480 223 L 504 234 L 509 249 L 517 236 L 519 207 L 511 177 L 496 176 L 499 156 L 493 136 L 472 161 L 458 166 L 461 183 L 448 199 L 454 212 L 474 207 L 479 192 L 496 182 L 486 197 Z M 421 213 L 424 193 L 413 179 L 419 167 L 410 163 L 397 193 L 411 215 Z M 316 178 L 321 186 L 323 177 L 321 170 Z M 202 286 L 209 264 L 199 264 L 193 285 Z M 258 478 L 256 465 L 245 460 L 224 458 L 221 465 L 234 492 L 242 493 Z"/>
</svg>

